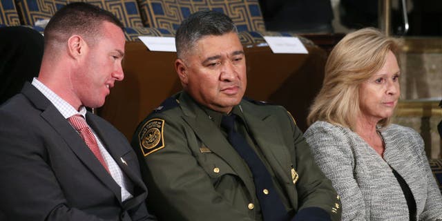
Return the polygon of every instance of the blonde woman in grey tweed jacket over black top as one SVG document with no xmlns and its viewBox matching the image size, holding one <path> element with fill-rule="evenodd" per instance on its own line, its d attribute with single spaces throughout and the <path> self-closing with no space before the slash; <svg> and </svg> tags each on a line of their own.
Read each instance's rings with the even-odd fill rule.
<svg viewBox="0 0 442 221">
<path fill-rule="evenodd" d="M 345 36 L 325 66 L 305 137 L 332 180 L 343 220 L 442 220 L 442 196 L 421 136 L 390 124 L 398 41 L 373 28 Z"/>
</svg>

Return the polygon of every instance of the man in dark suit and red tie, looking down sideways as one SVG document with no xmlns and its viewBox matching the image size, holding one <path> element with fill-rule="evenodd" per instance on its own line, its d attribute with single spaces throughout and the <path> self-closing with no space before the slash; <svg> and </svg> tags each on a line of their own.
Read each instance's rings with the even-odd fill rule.
<svg viewBox="0 0 442 221">
<path fill-rule="evenodd" d="M 50 19 L 39 77 L 0 107 L 0 211 L 7 220 L 154 219 L 131 146 L 85 108 L 102 106 L 124 77 L 122 27 L 87 3 Z"/>
</svg>

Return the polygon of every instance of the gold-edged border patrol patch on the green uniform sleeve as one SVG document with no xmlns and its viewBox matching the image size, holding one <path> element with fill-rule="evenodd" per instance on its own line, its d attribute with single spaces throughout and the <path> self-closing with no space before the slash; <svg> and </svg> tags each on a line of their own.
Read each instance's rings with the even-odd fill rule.
<svg viewBox="0 0 442 221">
<path fill-rule="evenodd" d="M 145 157 L 164 148 L 163 129 L 164 119 L 153 118 L 144 123 L 140 133 L 138 133 L 138 140 Z"/>
</svg>

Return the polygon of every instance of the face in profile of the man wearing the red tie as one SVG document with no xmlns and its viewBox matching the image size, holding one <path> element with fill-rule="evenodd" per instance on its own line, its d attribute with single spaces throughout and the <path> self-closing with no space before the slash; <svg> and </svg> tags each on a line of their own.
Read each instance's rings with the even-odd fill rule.
<svg viewBox="0 0 442 221">
<path fill-rule="evenodd" d="M 122 59 L 126 40 L 121 28 L 104 21 L 97 42 L 89 44 L 81 68 L 73 79 L 75 93 L 83 106 L 103 106 L 115 81 L 124 78 Z"/>
</svg>

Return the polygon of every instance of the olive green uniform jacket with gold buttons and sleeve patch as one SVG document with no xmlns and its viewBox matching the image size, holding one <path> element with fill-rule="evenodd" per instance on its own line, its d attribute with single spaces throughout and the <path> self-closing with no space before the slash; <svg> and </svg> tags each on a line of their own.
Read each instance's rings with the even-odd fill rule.
<svg viewBox="0 0 442 221">
<path fill-rule="evenodd" d="M 176 100 L 175 106 L 169 100 Z M 340 220 L 340 201 L 332 182 L 314 164 L 289 113 L 281 106 L 244 99 L 240 108 L 287 211 L 318 207 L 332 220 Z M 220 127 L 187 93 L 173 96 L 157 109 L 162 110 L 146 117 L 132 142 L 144 162 L 143 179 L 153 196 L 148 205 L 155 215 L 173 221 L 260 220 L 251 171 Z"/>
</svg>

